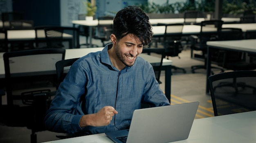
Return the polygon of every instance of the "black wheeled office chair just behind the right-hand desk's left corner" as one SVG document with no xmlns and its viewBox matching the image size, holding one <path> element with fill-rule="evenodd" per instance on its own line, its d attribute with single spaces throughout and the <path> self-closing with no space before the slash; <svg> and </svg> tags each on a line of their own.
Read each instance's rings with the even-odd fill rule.
<svg viewBox="0 0 256 143">
<path fill-rule="evenodd" d="M 191 57 L 193 57 L 193 50 L 202 51 L 200 58 L 204 59 L 204 65 L 193 65 L 191 66 L 192 73 L 195 73 L 195 69 L 206 69 L 207 64 L 207 41 L 218 40 L 218 32 L 222 27 L 222 20 L 207 20 L 201 22 L 200 34 L 198 36 L 191 35 Z M 195 55 L 196 56 L 196 55 Z M 211 67 L 215 69 L 220 69 L 224 72 L 222 68 Z M 212 74 L 214 74 L 211 71 Z"/>
</svg>

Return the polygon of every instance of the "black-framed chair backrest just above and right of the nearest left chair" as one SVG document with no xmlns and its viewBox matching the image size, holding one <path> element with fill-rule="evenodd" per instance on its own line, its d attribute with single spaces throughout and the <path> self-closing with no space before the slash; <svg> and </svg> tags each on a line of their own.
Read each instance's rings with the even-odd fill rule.
<svg viewBox="0 0 256 143">
<path fill-rule="evenodd" d="M 47 48 L 80 48 L 79 28 L 54 26 L 44 30 Z"/>
</svg>

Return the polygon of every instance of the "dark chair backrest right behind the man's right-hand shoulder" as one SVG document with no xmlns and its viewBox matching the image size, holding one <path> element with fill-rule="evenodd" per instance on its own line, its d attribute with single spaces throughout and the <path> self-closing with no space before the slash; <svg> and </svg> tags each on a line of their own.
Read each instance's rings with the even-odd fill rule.
<svg viewBox="0 0 256 143">
<path fill-rule="evenodd" d="M 162 65 L 163 65 L 163 59 L 165 57 L 165 49 L 164 48 L 143 48 L 142 50 L 142 53 L 148 53 L 148 54 L 152 54 L 152 53 L 155 53 L 155 54 L 160 54 L 161 56 L 161 61 L 159 65 L 154 65 L 153 66 L 153 69 L 154 69 L 154 72 L 155 72 L 155 77 L 158 81 L 158 83 L 160 83 L 160 75 L 161 75 L 161 70 L 162 70 Z"/>
</svg>

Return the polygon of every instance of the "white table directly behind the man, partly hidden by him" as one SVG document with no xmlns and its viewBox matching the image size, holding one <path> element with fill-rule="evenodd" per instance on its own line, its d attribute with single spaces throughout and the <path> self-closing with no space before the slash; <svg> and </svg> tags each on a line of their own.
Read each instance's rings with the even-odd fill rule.
<svg viewBox="0 0 256 143">
<path fill-rule="evenodd" d="M 103 47 L 101 47 L 101 48 L 66 49 L 65 59 L 80 58 L 82 56 L 89 54 L 90 52 L 97 52 L 97 51 L 101 51 L 102 49 L 103 49 Z M 4 54 L 4 52 L 0 53 L 0 80 L 4 80 L 4 74 L 5 74 L 3 54 Z M 159 62 L 161 61 L 161 58 L 158 58 L 155 56 L 150 56 L 148 54 L 140 54 L 139 56 L 146 59 L 151 65 L 159 65 Z M 55 59 L 55 58 L 53 57 L 50 59 Z M 169 101 L 171 100 L 170 99 L 171 98 L 171 65 L 172 65 L 171 60 L 163 59 L 162 69 L 165 70 L 165 95 Z M 25 72 L 25 71 L 23 71 L 23 72 Z M 56 69 L 55 69 L 55 67 L 48 67 L 47 71 L 41 71 L 40 74 L 42 72 L 47 73 L 47 74 L 52 74 L 52 73 L 56 73 Z M 19 72 L 17 72 L 17 74 L 19 74 Z"/>
</svg>

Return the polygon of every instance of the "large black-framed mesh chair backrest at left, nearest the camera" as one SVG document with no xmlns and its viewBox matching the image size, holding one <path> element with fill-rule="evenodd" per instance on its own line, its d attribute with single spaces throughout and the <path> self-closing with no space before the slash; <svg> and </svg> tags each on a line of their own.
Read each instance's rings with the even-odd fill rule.
<svg viewBox="0 0 256 143">
<path fill-rule="evenodd" d="M 22 93 L 13 93 L 13 88 L 20 83 L 38 81 L 55 82 L 55 63 L 65 58 L 65 49 L 35 49 L 6 52 L 4 57 L 4 70 L 6 79 L 7 104 L 12 105 L 13 100 L 22 100 L 27 96 Z M 25 92 L 25 84 L 22 92 Z M 32 86 L 26 87 L 31 91 Z"/>
</svg>

